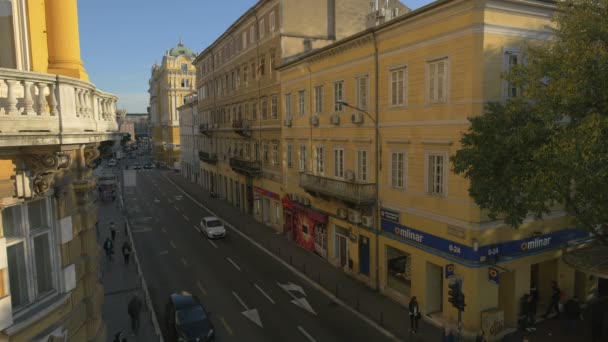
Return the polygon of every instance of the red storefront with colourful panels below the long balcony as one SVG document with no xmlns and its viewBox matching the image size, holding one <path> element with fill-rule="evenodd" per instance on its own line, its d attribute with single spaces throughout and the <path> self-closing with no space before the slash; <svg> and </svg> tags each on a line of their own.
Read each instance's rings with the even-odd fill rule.
<svg viewBox="0 0 608 342">
<path fill-rule="evenodd" d="M 327 215 L 283 196 L 283 230 L 288 239 L 327 257 Z"/>
</svg>

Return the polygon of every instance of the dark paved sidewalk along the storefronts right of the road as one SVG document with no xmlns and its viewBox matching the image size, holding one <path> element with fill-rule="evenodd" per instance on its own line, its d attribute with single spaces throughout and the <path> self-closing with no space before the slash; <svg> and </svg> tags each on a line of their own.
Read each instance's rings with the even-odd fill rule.
<svg viewBox="0 0 608 342">
<path fill-rule="evenodd" d="M 163 172 L 163 174 L 201 204 L 222 218 L 229 218 L 227 219 L 228 222 L 237 226 L 243 233 L 260 243 L 264 248 L 290 263 L 309 279 L 393 333 L 400 340 L 441 340 L 440 329 L 425 322 L 424 319 L 420 321 L 417 333 L 415 335 L 410 334 L 407 308 L 351 278 L 319 256 L 298 247 L 288 241 L 282 234 L 277 234 L 272 228 L 255 221 L 249 215 L 239 212 L 227 202 L 210 198 L 208 191 L 185 179 L 182 175 L 171 172 Z"/>
</svg>

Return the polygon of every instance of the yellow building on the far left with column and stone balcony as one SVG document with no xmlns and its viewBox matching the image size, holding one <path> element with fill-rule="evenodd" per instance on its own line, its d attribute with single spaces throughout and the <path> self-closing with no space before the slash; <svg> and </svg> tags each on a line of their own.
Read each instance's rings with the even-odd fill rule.
<svg viewBox="0 0 608 342">
<path fill-rule="evenodd" d="M 80 59 L 76 0 L 0 0 L 0 340 L 106 341 L 93 164 L 116 96 Z"/>
</svg>

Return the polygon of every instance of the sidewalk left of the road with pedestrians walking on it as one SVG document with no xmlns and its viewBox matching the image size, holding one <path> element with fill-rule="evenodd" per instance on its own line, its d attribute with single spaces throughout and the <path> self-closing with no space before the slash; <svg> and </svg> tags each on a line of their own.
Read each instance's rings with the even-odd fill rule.
<svg viewBox="0 0 608 342">
<path fill-rule="evenodd" d="M 100 167 L 101 172 L 102 167 Z M 97 174 L 97 170 L 95 172 Z M 128 265 L 125 265 L 121 253 L 122 244 L 128 237 L 125 236 L 125 218 L 120 210 L 120 197 L 114 202 L 99 203 L 99 228 L 97 245 L 100 255 L 100 271 L 104 287 L 103 319 L 106 324 L 108 341 L 114 341 L 118 332 L 123 332 L 127 341 L 158 341 L 152 323 L 152 315 L 145 300 L 142 281 L 139 277 L 135 254 L 131 253 Z M 116 224 L 116 240 L 114 241 L 114 255 L 108 261 L 103 250 L 103 242 L 110 236 L 110 222 Z M 133 243 L 131 241 L 133 248 Z M 134 248 L 133 248 L 134 249 Z M 143 306 L 140 317 L 140 327 L 137 335 L 131 330 L 131 322 L 127 313 L 129 300 L 137 294 Z"/>
</svg>

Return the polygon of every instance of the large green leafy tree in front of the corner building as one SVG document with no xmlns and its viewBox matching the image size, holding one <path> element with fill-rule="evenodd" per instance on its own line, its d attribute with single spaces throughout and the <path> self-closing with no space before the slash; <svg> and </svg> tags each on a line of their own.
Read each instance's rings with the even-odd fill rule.
<svg viewBox="0 0 608 342">
<path fill-rule="evenodd" d="M 529 46 L 509 82 L 520 97 L 469 119 L 456 174 L 492 219 L 517 227 L 564 205 L 606 242 L 608 224 L 608 0 L 557 3 L 555 39 Z"/>
</svg>

